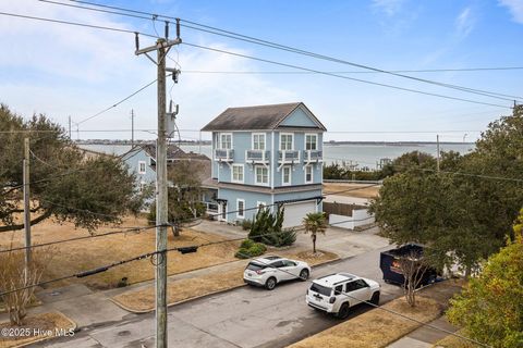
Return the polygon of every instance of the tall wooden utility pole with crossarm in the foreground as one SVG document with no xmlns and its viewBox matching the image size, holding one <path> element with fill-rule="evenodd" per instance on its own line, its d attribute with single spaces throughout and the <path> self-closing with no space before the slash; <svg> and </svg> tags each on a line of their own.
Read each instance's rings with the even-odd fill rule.
<svg viewBox="0 0 523 348">
<path fill-rule="evenodd" d="M 166 38 L 156 45 L 139 49 L 136 34 L 135 54 L 145 54 L 158 66 L 158 139 L 156 142 L 156 347 L 167 348 L 167 115 L 166 115 L 166 57 L 169 49 L 181 44 L 180 20 L 177 20 L 177 39 L 169 40 L 169 22 Z M 157 51 L 157 61 L 148 52 Z"/>
</svg>

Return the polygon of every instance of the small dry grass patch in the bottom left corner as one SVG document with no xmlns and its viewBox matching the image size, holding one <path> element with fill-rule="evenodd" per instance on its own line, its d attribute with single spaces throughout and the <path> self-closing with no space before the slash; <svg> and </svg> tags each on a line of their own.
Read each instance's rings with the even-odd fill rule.
<svg viewBox="0 0 523 348">
<path fill-rule="evenodd" d="M 27 316 L 25 319 L 25 325 L 20 327 L 10 326 L 9 322 L 0 323 L 0 331 L 2 328 L 22 331 L 23 334 L 16 337 L 5 337 L 5 335 L 0 334 L 0 348 L 13 348 L 52 338 L 57 335 L 56 330 L 63 330 L 64 333 L 70 333 L 69 330 L 75 330 L 76 324 L 62 313 L 52 312 Z M 27 332 L 25 330 L 27 330 Z M 40 334 L 38 335 L 38 333 Z"/>
</svg>

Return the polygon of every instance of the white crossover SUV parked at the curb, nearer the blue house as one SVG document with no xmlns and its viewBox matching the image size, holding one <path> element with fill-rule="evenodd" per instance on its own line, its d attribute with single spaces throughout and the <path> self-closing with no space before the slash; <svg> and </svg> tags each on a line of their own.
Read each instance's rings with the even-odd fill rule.
<svg viewBox="0 0 523 348">
<path fill-rule="evenodd" d="M 280 282 L 305 281 L 309 274 L 311 266 L 306 262 L 268 256 L 248 262 L 243 281 L 272 290 Z"/>
</svg>

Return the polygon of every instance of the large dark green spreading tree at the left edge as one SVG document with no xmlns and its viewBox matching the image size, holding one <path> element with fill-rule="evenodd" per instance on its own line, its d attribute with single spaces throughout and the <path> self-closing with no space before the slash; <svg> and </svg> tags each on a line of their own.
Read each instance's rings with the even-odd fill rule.
<svg viewBox="0 0 523 348">
<path fill-rule="evenodd" d="M 31 224 L 54 216 L 94 231 L 105 223 L 118 223 L 121 215 L 136 212 L 141 197 L 134 191 L 134 176 L 119 159 L 86 158 L 65 132 L 45 115 L 28 121 L 0 105 L 0 221 L 2 231 L 22 229 L 16 216 L 23 210 L 22 160 L 24 137 L 31 137 Z"/>
</svg>

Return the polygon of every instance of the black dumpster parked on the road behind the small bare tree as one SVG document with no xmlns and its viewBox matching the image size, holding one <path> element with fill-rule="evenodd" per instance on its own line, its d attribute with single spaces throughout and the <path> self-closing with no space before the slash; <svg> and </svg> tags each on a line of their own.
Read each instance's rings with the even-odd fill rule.
<svg viewBox="0 0 523 348">
<path fill-rule="evenodd" d="M 423 250 L 424 247 L 422 245 L 406 244 L 397 249 L 382 251 L 379 254 L 379 268 L 384 273 L 384 281 L 386 283 L 403 285 L 405 278 L 403 277 L 399 260 L 405 256 L 415 256 L 417 259 L 422 259 Z M 423 274 L 419 286 L 436 282 L 437 276 L 438 272 L 433 268 L 428 268 Z"/>
</svg>

